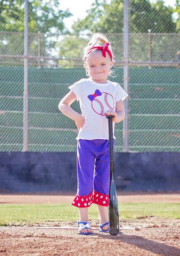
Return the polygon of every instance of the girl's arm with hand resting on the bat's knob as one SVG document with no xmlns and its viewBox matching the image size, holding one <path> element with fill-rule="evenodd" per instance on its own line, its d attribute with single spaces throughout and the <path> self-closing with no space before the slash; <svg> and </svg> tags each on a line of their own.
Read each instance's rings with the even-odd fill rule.
<svg viewBox="0 0 180 256">
<path fill-rule="evenodd" d="M 125 110 L 124 110 L 122 100 L 119 100 L 116 103 L 116 111 L 108 110 L 107 113 L 105 113 L 105 116 L 114 116 L 112 119 L 114 123 L 121 122 L 125 118 Z"/>
</svg>

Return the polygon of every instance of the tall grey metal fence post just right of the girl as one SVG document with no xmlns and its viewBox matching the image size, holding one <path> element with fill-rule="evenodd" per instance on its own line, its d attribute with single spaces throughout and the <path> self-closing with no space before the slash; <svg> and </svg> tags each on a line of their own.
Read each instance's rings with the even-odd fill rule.
<svg viewBox="0 0 180 256">
<path fill-rule="evenodd" d="M 128 93 L 129 77 L 128 77 L 128 55 L 129 55 L 129 1 L 124 0 L 124 89 Z M 125 119 L 123 121 L 123 151 L 128 151 L 129 129 L 128 129 L 128 99 L 124 101 Z"/>
</svg>

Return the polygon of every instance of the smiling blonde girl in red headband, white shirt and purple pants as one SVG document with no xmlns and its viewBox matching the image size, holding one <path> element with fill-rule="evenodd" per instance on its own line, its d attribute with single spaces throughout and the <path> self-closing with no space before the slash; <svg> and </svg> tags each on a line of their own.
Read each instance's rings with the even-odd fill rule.
<svg viewBox="0 0 180 256">
<path fill-rule="evenodd" d="M 107 77 L 113 65 L 113 53 L 108 39 L 95 33 L 84 49 L 84 67 L 89 78 L 69 86 L 70 92 L 60 101 L 60 111 L 75 121 L 77 137 L 77 195 L 72 205 L 79 209 L 79 234 L 92 234 L 88 219 L 88 207 L 97 204 L 100 231 L 108 232 L 109 205 L 109 133 L 108 119 L 114 123 L 124 117 L 122 101 L 127 93 L 118 83 Z M 79 101 L 81 114 L 70 106 Z M 115 137 L 114 137 L 115 139 Z"/>
</svg>

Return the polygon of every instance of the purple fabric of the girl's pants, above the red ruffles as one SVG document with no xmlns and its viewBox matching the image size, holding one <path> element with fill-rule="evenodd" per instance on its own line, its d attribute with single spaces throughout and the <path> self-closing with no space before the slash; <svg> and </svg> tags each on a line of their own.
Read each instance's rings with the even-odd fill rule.
<svg viewBox="0 0 180 256">
<path fill-rule="evenodd" d="M 109 140 L 78 140 L 77 195 L 109 194 Z"/>
</svg>

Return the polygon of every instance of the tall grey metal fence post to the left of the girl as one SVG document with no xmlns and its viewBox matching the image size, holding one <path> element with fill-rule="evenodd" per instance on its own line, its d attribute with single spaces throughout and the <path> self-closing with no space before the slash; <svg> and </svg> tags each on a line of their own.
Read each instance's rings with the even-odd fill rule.
<svg viewBox="0 0 180 256">
<path fill-rule="evenodd" d="M 28 0 L 24 5 L 23 151 L 28 151 Z"/>
</svg>

